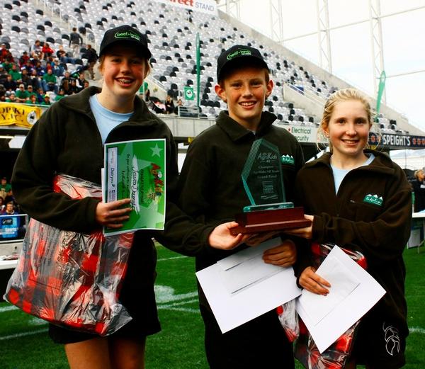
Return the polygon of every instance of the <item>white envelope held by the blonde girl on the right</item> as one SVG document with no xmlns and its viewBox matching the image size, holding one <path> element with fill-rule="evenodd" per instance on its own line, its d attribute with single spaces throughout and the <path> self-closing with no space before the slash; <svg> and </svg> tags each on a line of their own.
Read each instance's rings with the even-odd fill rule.
<svg viewBox="0 0 425 369">
<path fill-rule="evenodd" d="M 341 334 L 344 334 L 349 327 L 363 317 L 363 315 L 385 295 L 385 290 L 380 284 L 338 246 L 334 246 L 327 258 L 329 258 L 329 256 L 339 261 L 341 266 L 344 267 L 341 268 L 341 266 L 339 266 L 338 274 L 335 273 L 333 275 L 331 271 L 327 271 L 327 266 L 325 264 L 324 272 L 329 273 L 327 274 L 328 277 L 325 279 L 331 284 L 330 290 L 338 290 L 341 287 L 341 280 L 351 280 L 352 283 L 353 277 L 356 278 L 359 283 L 345 298 L 334 300 L 333 305 L 326 301 L 327 297 L 314 300 L 314 302 L 307 299 L 307 303 L 303 303 L 303 300 L 300 298 L 297 299 L 297 312 L 300 314 L 303 322 L 305 322 L 320 353 L 333 344 Z M 322 265 L 323 264 L 324 263 L 322 263 Z M 331 262 L 329 266 L 332 268 L 332 266 L 335 266 L 335 263 Z M 319 271 L 319 269 L 317 271 Z M 322 276 L 324 276 L 324 274 L 322 274 Z M 348 283 L 348 285 L 351 283 Z M 344 283 L 344 288 L 346 287 L 347 285 Z M 307 293 L 307 291 L 304 290 L 302 295 L 305 293 Z M 342 294 L 344 295 L 344 293 Z M 321 304 L 326 306 L 326 308 L 321 307 Z M 324 311 L 327 311 L 327 314 L 324 314 L 322 319 L 319 319 L 317 322 L 318 315 L 315 316 L 314 313 L 311 312 L 314 309 L 321 309 L 322 315 Z M 315 319 L 312 319 L 307 311 L 313 314 L 313 318 Z"/>
</svg>

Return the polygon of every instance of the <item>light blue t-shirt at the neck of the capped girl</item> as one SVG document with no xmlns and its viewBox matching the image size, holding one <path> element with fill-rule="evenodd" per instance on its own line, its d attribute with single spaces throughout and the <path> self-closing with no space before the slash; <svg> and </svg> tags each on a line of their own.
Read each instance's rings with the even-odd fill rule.
<svg viewBox="0 0 425 369">
<path fill-rule="evenodd" d="M 129 120 L 133 112 L 115 113 L 115 111 L 101 106 L 97 96 L 97 93 L 90 96 L 89 102 L 94 119 L 96 120 L 96 125 L 98 126 L 99 132 L 101 132 L 102 143 L 105 144 L 106 137 L 108 137 L 109 132 L 111 132 L 111 130 L 113 130 L 113 128 L 115 128 L 120 123 Z"/>
</svg>

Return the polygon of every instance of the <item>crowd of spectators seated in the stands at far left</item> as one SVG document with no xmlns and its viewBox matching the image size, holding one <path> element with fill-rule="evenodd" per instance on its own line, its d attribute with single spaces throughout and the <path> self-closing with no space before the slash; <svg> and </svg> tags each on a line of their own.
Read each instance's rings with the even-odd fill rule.
<svg viewBox="0 0 425 369">
<path fill-rule="evenodd" d="M 22 55 L 11 55 L 9 45 L 1 44 L 0 101 L 49 106 L 86 89 L 86 72 L 94 79 L 98 55 L 91 45 L 82 47 L 81 40 L 70 43 L 69 50 L 35 40 Z"/>
</svg>

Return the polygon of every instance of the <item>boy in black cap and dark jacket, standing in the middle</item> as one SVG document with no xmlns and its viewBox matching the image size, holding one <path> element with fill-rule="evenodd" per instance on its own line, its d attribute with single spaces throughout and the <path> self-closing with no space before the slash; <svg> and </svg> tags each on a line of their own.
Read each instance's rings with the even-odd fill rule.
<svg viewBox="0 0 425 369">
<path fill-rule="evenodd" d="M 259 50 L 235 45 L 217 60 L 215 92 L 227 103 L 217 124 L 202 132 L 188 148 L 179 179 L 179 205 L 199 222 L 218 225 L 234 219 L 249 198 L 242 184 L 242 169 L 255 140 L 275 144 L 282 162 L 285 193 L 293 200 L 294 181 L 304 164 L 300 144 L 288 131 L 273 125 L 276 115 L 263 112 L 273 89 L 268 66 Z M 287 157 L 285 157 L 287 158 Z M 263 260 L 278 266 L 295 263 L 295 244 L 282 244 L 266 251 Z M 234 250 L 205 247 L 196 255 L 196 270 L 206 268 Z M 210 368 L 294 368 L 292 345 L 286 339 L 276 311 L 222 334 L 200 287 L 200 312 L 205 324 L 205 351 Z"/>
</svg>

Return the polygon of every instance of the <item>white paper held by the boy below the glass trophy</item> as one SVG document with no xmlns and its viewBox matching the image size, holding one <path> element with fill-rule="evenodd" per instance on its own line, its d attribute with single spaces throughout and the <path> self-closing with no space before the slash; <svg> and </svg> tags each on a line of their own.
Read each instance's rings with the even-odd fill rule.
<svg viewBox="0 0 425 369">
<path fill-rule="evenodd" d="M 254 271 L 252 268 L 242 266 L 249 263 L 262 267 L 263 251 L 278 246 L 280 242 L 280 238 L 270 239 L 259 246 L 241 251 L 240 256 L 234 254 L 229 256 L 229 260 L 223 259 L 220 264 L 215 263 L 196 273 L 222 333 L 239 327 L 300 295 L 301 290 L 297 288 L 292 267 L 278 267 L 280 268 L 278 273 L 268 273 L 268 276 L 249 283 L 249 280 L 252 280 L 250 275 Z M 239 278 L 242 280 L 240 284 L 245 284 L 245 287 L 237 290 L 237 293 L 229 293 L 232 288 L 227 285 L 226 278 L 222 278 L 222 273 L 225 270 L 232 270 L 234 266 L 240 268 L 242 274 Z M 256 278 L 261 273 L 255 273 Z"/>
</svg>

